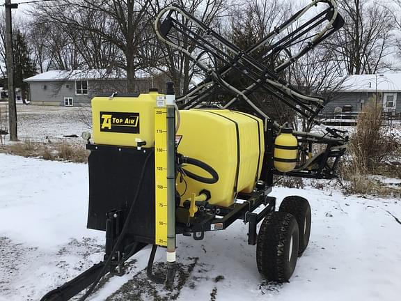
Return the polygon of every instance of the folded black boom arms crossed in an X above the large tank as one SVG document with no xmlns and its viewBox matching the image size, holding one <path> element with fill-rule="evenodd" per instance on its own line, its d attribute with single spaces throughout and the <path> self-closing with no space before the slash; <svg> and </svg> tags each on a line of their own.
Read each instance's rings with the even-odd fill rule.
<svg viewBox="0 0 401 301">
<path fill-rule="evenodd" d="M 294 22 L 297 22 L 301 16 L 305 15 L 310 8 L 319 2 L 328 3 L 329 7 L 321 13 L 318 13 L 311 20 L 308 20 L 308 22 L 298 26 L 297 29 L 294 29 L 294 31 L 287 36 L 272 43 L 274 37 L 278 36 L 278 34 L 282 33 L 285 29 L 288 29 L 288 27 L 294 24 Z M 166 17 L 164 21 L 160 23 L 164 15 L 166 15 Z M 173 17 L 173 15 L 175 17 Z M 297 40 L 301 38 L 305 40 L 304 37 L 306 33 L 325 21 L 327 21 L 327 24 L 324 28 L 319 33 L 313 35 L 313 38 L 311 38 L 311 40 L 306 43 L 306 46 L 302 47 L 297 54 L 290 56 L 273 70 L 264 65 L 264 63 L 272 60 L 272 56 L 276 56 L 278 52 L 299 43 Z M 182 8 L 174 6 L 164 8 L 159 13 L 155 23 L 155 30 L 160 40 L 189 56 L 199 68 L 209 75 L 205 81 L 189 91 L 187 95 L 178 99 L 178 101 L 188 101 L 182 108 L 189 109 L 196 106 L 203 98 L 220 87 L 226 89 L 226 91 L 233 95 L 233 99 L 225 105 L 226 108 L 229 108 L 235 101 L 242 98 L 253 107 L 260 116 L 267 118 L 266 112 L 255 107 L 253 102 L 249 99 L 249 95 L 253 93 L 253 91 L 258 88 L 263 88 L 268 93 L 274 94 L 278 99 L 292 107 L 292 109 L 298 111 L 299 114 L 303 114 L 308 118 L 313 118 L 318 114 L 320 109 L 322 109 L 324 100 L 322 98 L 310 97 L 297 91 L 296 88 L 279 77 L 277 73 L 287 68 L 292 62 L 306 54 L 310 49 L 313 49 L 315 45 L 330 36 L 336 29 L 342 26 L 342 24 L 343 19 L 338 15 L 335 1 L 315 0 L 302 10 L 299 10 L 290 20 L 277 26 L 272 33 L 267 34 L 265 38 L 262 38 L 246 52 L 221 37 L 218 33 L 210 29 L 210 27 L 203 24 L 200 20 L 197 20 L 196 17 L 189 15 L 189 13 L 182 10 Z M 191 40 L 191 43 L 182 45 L 182 43 L 180 43 L 180 38 L 178 38 L 179 36 Z M 266 46 L 267 44 L 269 44 L 269 46 Z M 262 49 L 262 47 L 267 47 L 267 49 L 263 48 L 265 53 L 262 59 L 258 61 L 252 54 L 255 54 L 255 52 Z M 212 59 L 207 59 L 205 61 L 205 58 Z M 219 68 L 218 66 L 221 65 L 223 65 L 223 67 Z M 228 77 L 230 72 L 233 71 L 236 72 L 236 75 L 238 74 L 250 81 L 251 85 L 246 87 L 233 86 Z"/>
</svg>

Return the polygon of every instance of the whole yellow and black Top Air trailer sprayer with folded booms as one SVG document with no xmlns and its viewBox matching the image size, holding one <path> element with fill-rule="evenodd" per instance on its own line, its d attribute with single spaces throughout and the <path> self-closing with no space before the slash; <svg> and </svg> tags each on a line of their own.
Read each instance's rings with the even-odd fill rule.
<svg viewBox="0 0 401 301">
<path fill-rule="evenodd" d="M 315 0 L 240 49 L 184 8 L 161 10 L 157 38 L 186 55 L 205 79 L 177 99 L 172 83 L 166 94 L 152 88 L 93 98 L 93 133 L 83 134 L 91 151 L 88 229 L 105 231 L 104 261 L 42 300 L 69 300 L 89 287 L 85 300 L 107 273 L 123 275 L 125 261 L 146 245 L 152 245 L 148 277 L 171 288 L 176 236 L 203 240 L 238 219 L 248 224 L 262 277 L 288 281 L 308 245 L 311 213 L 300 196 L 285 197 L 275 211 L 273 176 L 335 177 L 347 137 L 317 121 L 326 100 L 299 91 L 282 74 L 343 23 L 335 1 Z M 292 54 L 294 45 L 301 47 Z M 255 101 L 257 93 L 287 105 L 322 134 L 274 121 Z M 166 248 L 163 277 L 152 271 L 158 246 Z"/>
</svg>

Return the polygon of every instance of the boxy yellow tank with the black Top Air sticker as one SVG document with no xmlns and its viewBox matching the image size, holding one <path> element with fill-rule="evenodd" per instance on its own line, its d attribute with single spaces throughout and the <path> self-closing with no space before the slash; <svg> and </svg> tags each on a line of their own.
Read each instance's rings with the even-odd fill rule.
<svg viewBox="0 0 401 301">
<path fill-rule="evenodd" d="M 95 144 L 138 146 L 155 145 L 154 109 L 157 91 L 146 94 L 96 96 L 92 99 L 93 142 Z"/>
</svg>

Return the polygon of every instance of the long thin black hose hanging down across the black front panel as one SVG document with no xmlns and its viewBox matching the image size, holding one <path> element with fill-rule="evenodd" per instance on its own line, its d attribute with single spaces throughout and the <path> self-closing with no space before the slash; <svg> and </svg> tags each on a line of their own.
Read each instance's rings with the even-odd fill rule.
<svg viewBox="0 0 401 301">
<path fill-rule="evenodd" d="M 104 268 L 102 268 L 102 271 L 99 273 L 99 276 L 97 276 L 95 281 L 93 281 L 93 284 L 90 288 L 88 288 L 88 291 L 86 291 L 86 293 L 81 298 L 79 298 L 79 301 L 84 301 L 84 300 L 86 300 L 86 298 L 88 298 L 89 295 L 91 295 L 91 293 L 93 292 L 93 290 L 99 283 L 100 279 L 102 279 L 103 275 L 106 273 L 107 268 L 109 268 L 109 265 L 111 264 L 111 260 L 113 259 L 113 254 L 116 252 L 116 250 L 118 249 L 118 247 L 120 246 L 121 242 L 124 239 L 125 232 L 127 232 L 129 222 L 132 217 L 132 213 L 134 213 L 134 207 L 135 207 L 134 205 L 136 203 L 136 199 L 138 199 L 139 192 L 141 192 L 143 176 L 145 176 L 146 167 L 148 165 L 150 157 L 152 157 L 153 152 L 154 151 L 152 150 L 148 153 L 148 157 L 146 157 L 146 160 L 143 163 L 143 167 L 141 170 L 141 176 L 139 177 L 139 182 L 138 182 L 138 186 L 136 188 L 134 199 L 132 201 L 131 207 L 129 208 L 129 212 L 127 215 L 127 219 L 125 219 L 123 229 L 121 230 L 120 236 L 118 236 L 118 239 L 116 241 L 116 245 L 114 245 L 113 249 L 111 250 L 111 253 L 110 253 L 111 256 L 109 256 L 109 258 L 107 258 L 107 260 L 104 262 Z"/>
</svg>

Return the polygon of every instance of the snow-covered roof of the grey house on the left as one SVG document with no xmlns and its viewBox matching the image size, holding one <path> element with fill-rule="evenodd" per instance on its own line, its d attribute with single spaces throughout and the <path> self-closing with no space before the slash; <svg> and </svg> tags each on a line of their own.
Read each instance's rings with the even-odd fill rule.
<svg viewBox="0 0 401 301">
<path fill-rule="evenodd" d="M 138 70 L 135 72 L 136 78 L 145 79 L 152 77 L 151 72 Z M 88 80 L 88 79 L 126 79 L 124 70 L 92 69 L 92 70 L 51 70 L 24 79 L 24 82 L 54 82 L 68 80 Z"/>
</svg>

